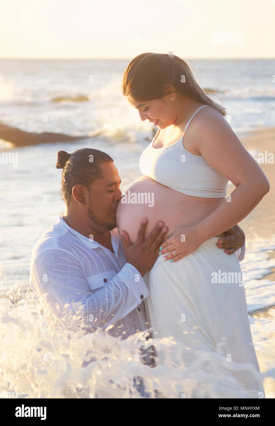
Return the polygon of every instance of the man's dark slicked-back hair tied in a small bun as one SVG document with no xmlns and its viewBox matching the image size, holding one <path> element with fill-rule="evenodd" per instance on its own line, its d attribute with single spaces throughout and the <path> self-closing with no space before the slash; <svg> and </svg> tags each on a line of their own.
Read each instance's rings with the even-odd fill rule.
<svg viewBox="0 0 275 426">
<path fill-rule="evenodd" d="M 57 169 L 63 169 L 62 172 L 62 193 L 63 200 L 69 205 L 72 189 L 74 185 L 81 184 L 88 190 L 90 184 L 96 179 L 102 179 L 103 173 L 100 167 L 101 163 L 114 161 L 110 155 L 92 148 L 83 148 L 74 151 L 72 154 L 66 151 L 57 153 Z"/>
</svg>

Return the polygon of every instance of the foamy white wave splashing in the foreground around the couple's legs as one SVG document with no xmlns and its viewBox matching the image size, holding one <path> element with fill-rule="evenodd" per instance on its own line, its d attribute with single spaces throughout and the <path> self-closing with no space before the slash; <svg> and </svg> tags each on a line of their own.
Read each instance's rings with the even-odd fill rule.
<svg viewBox="0 0 275 426">
<path fill-rule="evenodd" d="M 33 297 L 15 306 L 0 299 L 0 312 L 5 348 L 1 356 L 2 394 L 90 399 L 254 396 L 235 380 L 227 370 L 226 358 L 218 353 L 196 351 L 186 368 L 186 349 L 180 342 L 154 339 L 156 350 L 165 351 L 167 362 L 150 368 L 142 363 L 141 348 L 149 350 L 152 345 L 144 333 L 125 340 L 103 331 L 72 333 L 46 321 L 40 300 Z M 241 368 L 230 364 L 233 371 Z"/>
</svg>

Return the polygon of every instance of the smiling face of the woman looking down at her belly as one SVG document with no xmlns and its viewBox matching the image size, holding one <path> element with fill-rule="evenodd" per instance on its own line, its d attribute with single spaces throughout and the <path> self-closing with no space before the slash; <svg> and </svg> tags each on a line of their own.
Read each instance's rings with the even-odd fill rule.
<svg viewBox="0 0 275 426">
<path fill-rule="evenodd" d="M 177 119 L 177 112 L 169 95 L 152 101 L 135 101 L 133 98 L 127 100 L 132 107 L 138 109 L 142 121 L 148 120 L 160 129 L 171 126 Z"/>
</svg>

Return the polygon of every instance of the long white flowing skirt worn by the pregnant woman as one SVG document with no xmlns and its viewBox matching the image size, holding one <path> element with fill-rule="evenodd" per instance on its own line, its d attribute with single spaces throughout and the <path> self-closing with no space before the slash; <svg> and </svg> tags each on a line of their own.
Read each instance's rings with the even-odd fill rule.
<svg viewBox="0 0 275 426">
<path fill-rule="evenodd" d="M 163 260 L 167 253 L 158 257 L 143 277 L 150 294 L 145 300 L 149 323 L 155 339 L 172 337 L 183 344 L 187 368 L 196 350 L 217 352 L 246 389 L 260 392 L 240 264 L 217 241 L 209 239 L 175 263 Z M 157 348 L 157 355 L 165 364 L 164 351 Z M 236 371 L 236 363 L 249 366 Z"/>
</svg>

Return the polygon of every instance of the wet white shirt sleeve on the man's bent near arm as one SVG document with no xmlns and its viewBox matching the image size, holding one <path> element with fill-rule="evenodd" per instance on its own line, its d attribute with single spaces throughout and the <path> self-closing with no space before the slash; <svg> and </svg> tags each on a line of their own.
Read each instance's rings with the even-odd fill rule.
<svg viewBox="0 0 275 426">
<path fill-rule="evenodd" d="M 72 330 L 106 329 L 149 296 L 142 276 L 129 263 L 102 287 L 91 290 L 77 257 L 60 249 L 34 256 L 30 286 L 57 320 Z"/>
</svg>

